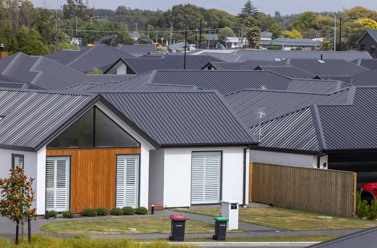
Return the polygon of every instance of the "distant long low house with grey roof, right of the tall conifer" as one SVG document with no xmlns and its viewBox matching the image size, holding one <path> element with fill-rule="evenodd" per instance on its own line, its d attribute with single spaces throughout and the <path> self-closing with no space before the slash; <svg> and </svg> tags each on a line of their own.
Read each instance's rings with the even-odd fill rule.
<svg viewBox="0 0 377 248">
<path fill-rule="evenodd" d="M 282 46 L 283 38 L 277 38 L 275 40 L 259 40 L 260 47 L 270 48 L 270 46 Z M 284 50 L 297 49 L 301 47 L 302 50 L 311 50 L 312 47 L 319 49 L 321 45 L 320 41 L 314 41 L 310 39 L 284 39 Z"/>
</svg>

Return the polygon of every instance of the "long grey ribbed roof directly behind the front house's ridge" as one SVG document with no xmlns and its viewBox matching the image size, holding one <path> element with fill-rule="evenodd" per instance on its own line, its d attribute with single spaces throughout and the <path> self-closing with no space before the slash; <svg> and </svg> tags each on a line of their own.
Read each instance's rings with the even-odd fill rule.
<svg viewBox="0 0 377 248">
<path fill-rule="evenodd" d="M 119 82 L 96 85 L 93 89 L 97 92 L 132 89 L 146 83 L 195 85 L 199 89 L 218 90 L 223 95 L 245 88 L 262 87 L 276 90 L 287 90 L 290 87 L 295 87 L 300 90 L 310 89 L 316 92 L 328 92 L 328 90 L 340 89 L 342 85 L 338 81 L 291 79 L 271 71 L 156 70 Z"/>
</svg>

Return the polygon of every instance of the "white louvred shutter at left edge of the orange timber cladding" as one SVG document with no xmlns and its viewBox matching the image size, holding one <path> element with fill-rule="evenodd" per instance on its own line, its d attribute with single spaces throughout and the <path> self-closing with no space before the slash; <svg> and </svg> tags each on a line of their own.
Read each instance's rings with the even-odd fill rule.
<svg viewBox="0 0 377 248">
<path fill-rule="evenodd" d="M 69 208 L 69 158 L 48 157 L 46 161 L 46 209 Z"/>
</svg>

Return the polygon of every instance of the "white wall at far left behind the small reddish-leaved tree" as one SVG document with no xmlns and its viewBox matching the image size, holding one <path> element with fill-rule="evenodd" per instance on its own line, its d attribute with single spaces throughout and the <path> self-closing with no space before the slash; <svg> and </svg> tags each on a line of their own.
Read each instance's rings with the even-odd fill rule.
<svg viewBox="0 0 377 248">
<path fill-rule="evenodd" d="M 33 190 L 37 191 L 37 153 L 31 151 L 0 149 L 0 178 L 9 176 L 9 170 L 12 168 L 12 153 L 23 155 L 23 169 L 25 175 L 34 178 Z M 32 207 L 36 207 L 36 202 Z"/>
</svg>

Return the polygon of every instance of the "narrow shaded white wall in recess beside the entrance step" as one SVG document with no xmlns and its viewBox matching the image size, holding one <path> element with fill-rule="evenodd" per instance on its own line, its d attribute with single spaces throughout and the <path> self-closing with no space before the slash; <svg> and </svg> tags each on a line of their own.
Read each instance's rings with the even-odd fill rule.
<svg viewBox="0 0 377 248">
<path fill-rule="evenodd" d="M 164 149 L 149 151 L 149 204 L 164 204 Z"/>
</svg>

